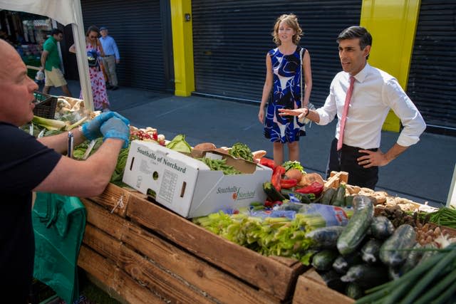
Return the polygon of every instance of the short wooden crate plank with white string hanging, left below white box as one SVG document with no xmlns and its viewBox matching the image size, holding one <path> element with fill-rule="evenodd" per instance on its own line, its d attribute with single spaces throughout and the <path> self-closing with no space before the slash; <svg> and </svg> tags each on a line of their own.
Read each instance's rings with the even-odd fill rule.
<svg viewBox="0 0 456 304">
<path fill-rule="evenodd" d="M 108 209 L 110 212 L 125 217 L 133 189 L 125 189 L 109 183 L 105 191 L 90 197 L 90 200 Z M 133 190 L 134 191 L 134 190 Z"/>
</svg>

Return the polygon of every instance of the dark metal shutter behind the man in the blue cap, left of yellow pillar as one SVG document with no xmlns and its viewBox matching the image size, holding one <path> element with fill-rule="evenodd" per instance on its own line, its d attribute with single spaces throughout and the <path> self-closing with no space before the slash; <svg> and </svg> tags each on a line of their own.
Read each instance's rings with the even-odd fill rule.
<svg viewBox="0 0 456 304">
<path fill-rule="evenodd" d="M 162 14 L 166 13 L 160 11 L 160 3 L 166 5 L 167 2 L 81 1 L 85 31 L 91 25 L 106 26 L 118 45 L 120 85 L 155 91 L 164 91 L 170 86 L 168 80 L 173 76 L 169 70 L 172 67 L 169 65 L 172 55 L 169 54 L 172 50 L 166 50 L 169 46 L 163 43 L 163 33 L 170 30 L 170 14 L 163 18 L 168 19 L 168 23 L 162 23 Z M 164 61 L 164 53 L 167 61 Z"/>
</svg>

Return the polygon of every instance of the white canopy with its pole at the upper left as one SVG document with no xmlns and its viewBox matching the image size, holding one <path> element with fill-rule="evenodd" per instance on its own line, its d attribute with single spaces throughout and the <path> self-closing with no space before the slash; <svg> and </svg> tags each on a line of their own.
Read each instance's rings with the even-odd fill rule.
<svg viewBox="0 0 456 304">
<path fill-rule="evenodd" d="M 76 59 L 78 61 L 79 79 L 83 92 L 84 106 L 93 110 L 92 86 L 88 74 L 86 53 L 86 36 L 84 34 L 83 13 L 80 0 L 0 0 L 0 9 L 9 11 L 24 11 L 26 13 L 48 16 L 62 23 L 71 24 Z"/>
</svg>

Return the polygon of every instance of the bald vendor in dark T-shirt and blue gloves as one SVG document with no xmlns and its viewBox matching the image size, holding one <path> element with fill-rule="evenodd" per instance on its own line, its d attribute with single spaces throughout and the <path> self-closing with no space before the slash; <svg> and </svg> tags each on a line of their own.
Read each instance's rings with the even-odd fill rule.
<svg viewBox="0 0 456 304">
<path fill-rule="evenodd" d="M 105 112 L 73 130 L 74 145 L 103 137 L 85 161 L 63 157 L 68 132 L 38 140 L 19 126 L 33 118 L 36 83 L 28 78 L 19 53 L 0 40 L 0 298 L 26 303 L 32 283 L 34 239 L 32 191 L 89 197 L 103 192 L 122 147 L 128 146 L 128 120 Z"/>
</svg>

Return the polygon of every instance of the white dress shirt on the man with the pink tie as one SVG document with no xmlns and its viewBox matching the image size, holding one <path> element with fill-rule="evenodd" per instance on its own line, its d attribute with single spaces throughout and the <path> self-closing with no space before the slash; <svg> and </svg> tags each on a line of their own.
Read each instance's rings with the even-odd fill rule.
<svg viewBox="0 0 456 304">
<path fill-rule="evenodd" d="M 349 78 L 350 75 L 346 72 L 338 73 L 331 83 L 325 104 L 316 110 L 320 116 L 318 125 L 327 125 L 337 114 L 337 139 L 343 104 L 350 85 Z M 380 147 L 382 125 L 390 109 L 398 115 L 404 127 L 400 132 L 398 145 L 409 147 L 420 140 L 426 124 L 398 80 L 368 63 L 355 75 L 355 79 L 343 133 L 345 145 L 363 149 Z"/>
</svg>

